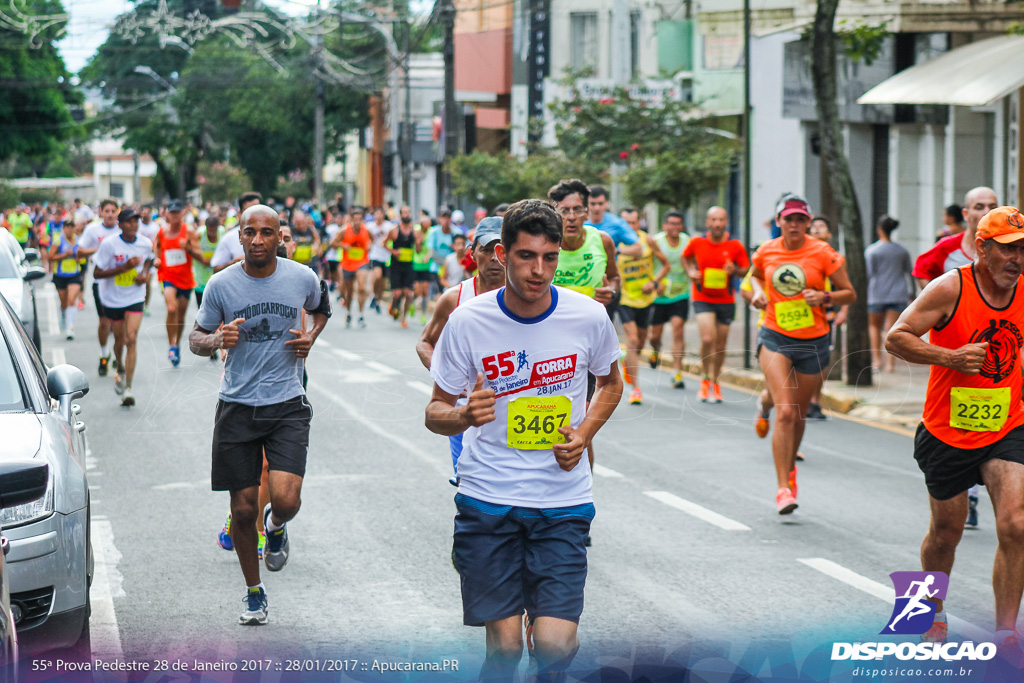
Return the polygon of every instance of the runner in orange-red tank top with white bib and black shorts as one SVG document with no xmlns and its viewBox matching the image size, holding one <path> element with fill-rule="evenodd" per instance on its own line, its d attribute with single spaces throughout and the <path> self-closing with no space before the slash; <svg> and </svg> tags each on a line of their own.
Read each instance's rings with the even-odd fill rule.
<svg viewBox="0 0 1024 683">
<path fill-rule="evenodd" d="M 175 368 L 181 361 L 181 334 L 185 329 L 188 300 L 196 289 L 193 258 L 202 258 L 199 234 L 183 221 L 184 206 L 177 200 L 167 206 L 167 223 L 157 233 L 156 252 L 160 267 L 157 279 L 164 287 L 167 302 L 167 358 Z"/>
</svg>

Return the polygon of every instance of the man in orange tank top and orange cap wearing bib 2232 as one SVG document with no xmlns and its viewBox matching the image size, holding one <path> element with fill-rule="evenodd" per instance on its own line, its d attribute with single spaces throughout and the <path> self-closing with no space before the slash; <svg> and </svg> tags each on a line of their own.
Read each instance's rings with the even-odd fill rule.
<svg viewBox="0 0 1024 683">
<path fill-rule="evenodd" d="M 995 510 L 995 643 L 1021 655 L 1024 593 L 1024 215 L 998 207 L 978 223 L 973 263 L 932 281 L 896 321 L 886 350 L 932 366 L 913 457 L 925 473 L 932 520 L 921 545 L 925 571 L 953 567 L 968 488 L 983 483 Z M 929 335 L 928 341 L 922 337 Z M 941 600 L 922 638 L 944 641 Z"/>
</svg>

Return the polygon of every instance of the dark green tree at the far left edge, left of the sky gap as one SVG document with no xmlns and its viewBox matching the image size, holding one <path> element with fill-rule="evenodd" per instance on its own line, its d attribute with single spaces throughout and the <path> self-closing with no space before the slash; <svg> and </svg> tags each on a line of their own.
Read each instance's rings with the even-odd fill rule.
<svg viewBox="0 0 1024 683">
<path fill-rule="evenodd" d="M 59 14 L 59 0 L 18 0 L 18 9 L 29 15 Z M 37 37 L 0 28 L 0 160 L 17 157 L 45 171 L 50 160 L 63 151 L 67 140 L 80 135 L 73 112 L 82 95 L 71 85 L 54 45 L 58 28 Z"/>
</svg>

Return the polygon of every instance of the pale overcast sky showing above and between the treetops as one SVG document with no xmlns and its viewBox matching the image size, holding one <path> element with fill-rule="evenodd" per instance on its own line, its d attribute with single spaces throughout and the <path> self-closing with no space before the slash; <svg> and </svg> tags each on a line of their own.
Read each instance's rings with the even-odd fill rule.
<svg viewBox="0 0 1024 683">
<path fill-rule="evenodd" d="M 317 0 L 263 0 L 264 4 L 284 11 L 301 14 L 308 7 L 314 6 Z M 327 1 L 324 1 L 325 6 Z M 430 7 L 431 0 L 414 2 L 417 5 Z M 132 3 L 128 0 L 63 0 L 65 9 L 71 13 L 67 36 L 60 41 L 60 54 L 65 58 L 68 71 L 77 74 L 85 67 L 95 52 L 103 44 L 114 22 L 122 12 L 130 9 Z M 173 48 L 172 48 L 173 49 Z"/>
</svg>

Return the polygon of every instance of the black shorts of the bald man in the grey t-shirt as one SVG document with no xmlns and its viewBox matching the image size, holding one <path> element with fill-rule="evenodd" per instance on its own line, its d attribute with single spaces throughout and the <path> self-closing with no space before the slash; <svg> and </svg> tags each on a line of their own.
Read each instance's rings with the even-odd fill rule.
<svg viewBox="0 0 1024 683">
<path fill-rule="evenodd" d="M 213 490 L 258 486 L 264 453 L 269 469 L 304 476 L 312 417 L 313 409 L 304 395 L 270 405 L 218 400 L 210 475 Z"/>
</svg>

